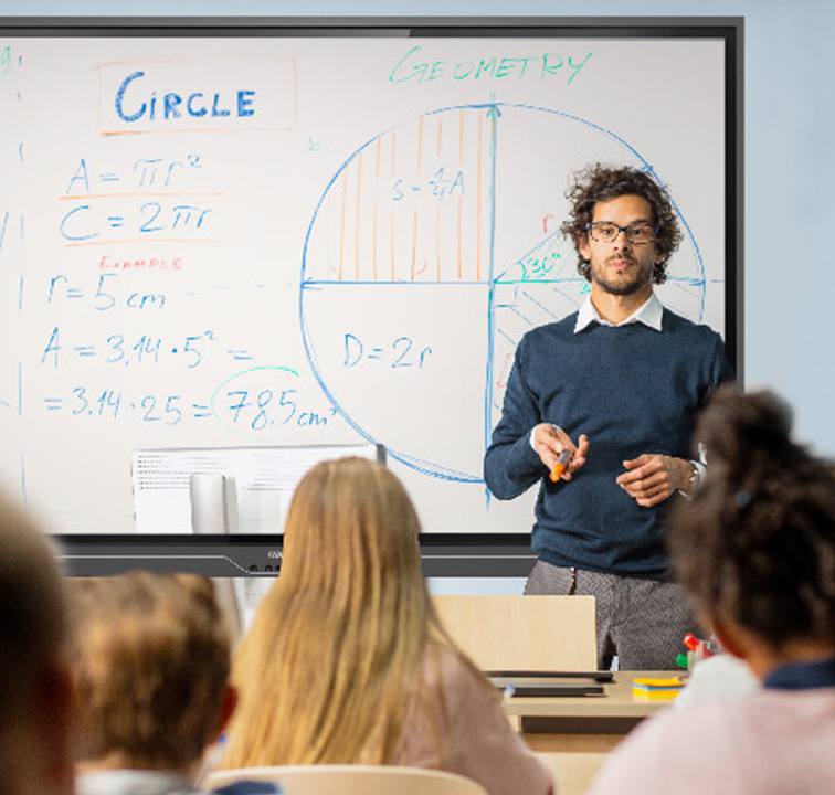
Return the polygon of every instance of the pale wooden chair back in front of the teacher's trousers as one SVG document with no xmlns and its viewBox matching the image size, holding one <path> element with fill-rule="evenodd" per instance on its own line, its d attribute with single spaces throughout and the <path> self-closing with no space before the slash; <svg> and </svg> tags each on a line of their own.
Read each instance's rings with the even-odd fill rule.
<svg viewBox="0 0 835 795">
<path fill-rule="evenodd" d="M 593 596 L 436 595 L 441 623 L 482 670 L 593 671 Z"/>
</svg>

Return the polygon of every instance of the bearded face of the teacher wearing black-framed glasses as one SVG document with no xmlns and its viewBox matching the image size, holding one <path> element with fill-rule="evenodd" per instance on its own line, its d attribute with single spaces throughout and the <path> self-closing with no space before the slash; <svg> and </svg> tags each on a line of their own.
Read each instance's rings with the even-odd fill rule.
<svg viewBox="0 0 835 795">
<path fill-rule="evenodd" d="M 621 227 L 652 224 L 653 211 L 643 197 L 622 195 L 598 202 L 592 213 L 592 223 L 616 224 Z M 593 286 L 619 296 L 652 289 L 653 269 L 660 258 L 654 240 L 648 243 L 632 243 L 625 232 L 617 232 L 615 239 L 606 243 L 594 240 L 589 232 L 578 247 L 591 265 Z"/>
</svg>

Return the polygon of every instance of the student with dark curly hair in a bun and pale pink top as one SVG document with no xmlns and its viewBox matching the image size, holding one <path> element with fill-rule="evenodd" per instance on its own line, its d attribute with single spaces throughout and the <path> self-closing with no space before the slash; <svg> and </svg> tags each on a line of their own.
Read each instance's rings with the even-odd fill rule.
<svg viewBox="0 0 835 795">
<path fill-rule="evenodd" d="M 669 537 L 694 608 L 762 687 L 647 722 L 590 795 L 835 787 L 835 478 L 791 424 L 770 392 L 717 391 L 698 423 L 710 468 Z"/>
</svg>

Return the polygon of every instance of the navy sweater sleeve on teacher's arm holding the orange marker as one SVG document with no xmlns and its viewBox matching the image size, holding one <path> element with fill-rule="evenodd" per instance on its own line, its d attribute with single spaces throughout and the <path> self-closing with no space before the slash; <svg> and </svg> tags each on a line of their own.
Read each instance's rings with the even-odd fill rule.
<svg viewBox="0 0 835 795">
<path fill-rule="evenodd" d="M 526 350 L 522 339 L 507 381 L 501 418 L 484 456 L 484 481 L 498 499 L 518 497 L 548 473 L 529 441 L 542 417 L 525 379 Z"/>
</svg>

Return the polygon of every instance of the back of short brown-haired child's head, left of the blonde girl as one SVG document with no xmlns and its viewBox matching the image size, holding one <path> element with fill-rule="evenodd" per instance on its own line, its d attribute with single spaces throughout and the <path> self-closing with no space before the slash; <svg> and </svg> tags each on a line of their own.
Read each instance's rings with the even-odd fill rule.
<svg viewBox="0 0 835 795">
<path fill-rule="evenodd" d="M 192 775 L 234 708 L 212 583 L 129 572 L 68 583 L 80 772 Z"/>
</svg>

